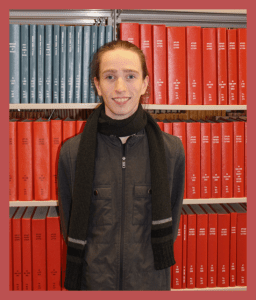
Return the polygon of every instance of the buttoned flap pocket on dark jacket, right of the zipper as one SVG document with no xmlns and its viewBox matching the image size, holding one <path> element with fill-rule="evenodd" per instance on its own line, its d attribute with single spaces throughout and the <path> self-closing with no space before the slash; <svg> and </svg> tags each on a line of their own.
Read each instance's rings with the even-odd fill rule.
<svg viewBox="0 0 256 300">
<path fill-rule="evenodd" d="M 151 186 L 135 185 L 133 199 L 133 225 L 151 224 Z"/>
</svg>

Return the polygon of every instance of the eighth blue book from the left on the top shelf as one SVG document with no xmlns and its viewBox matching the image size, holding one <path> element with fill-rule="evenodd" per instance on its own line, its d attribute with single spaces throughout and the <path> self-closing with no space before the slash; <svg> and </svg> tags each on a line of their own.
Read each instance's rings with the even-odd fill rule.
<svg viewBox="0 0 256 300">
<path fill-rule="evenodd" d="M 67 103 L 74 103 L 74 26 L 67 27 Z"/>
</svg>

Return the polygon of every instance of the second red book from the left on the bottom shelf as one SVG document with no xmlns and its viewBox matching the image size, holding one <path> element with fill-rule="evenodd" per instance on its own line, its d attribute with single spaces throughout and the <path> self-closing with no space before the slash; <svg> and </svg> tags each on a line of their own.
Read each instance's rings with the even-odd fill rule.
<svg viewBox="0 0 256 300">
<path fill-rule="evenodd" d="M 22 225 L 22 286 L 23 291 L 32 291 L 32 217 L 35 207 L 27 207 L 21 219 Z"/>
</svg>

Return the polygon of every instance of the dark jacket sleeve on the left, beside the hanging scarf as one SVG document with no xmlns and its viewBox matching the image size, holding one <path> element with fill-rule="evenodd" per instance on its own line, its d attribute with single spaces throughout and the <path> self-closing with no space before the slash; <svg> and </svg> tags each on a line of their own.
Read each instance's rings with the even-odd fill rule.
<svg viewBox="0 0 256 300">
<path fill-rule="evenodd" d="M 68 228 L 72 204 L 71 168 L 68 144 L 65 143 L 58 162 L 58 198 L 60 225 L 64 241 L 67 244 Z"/>
</svg>

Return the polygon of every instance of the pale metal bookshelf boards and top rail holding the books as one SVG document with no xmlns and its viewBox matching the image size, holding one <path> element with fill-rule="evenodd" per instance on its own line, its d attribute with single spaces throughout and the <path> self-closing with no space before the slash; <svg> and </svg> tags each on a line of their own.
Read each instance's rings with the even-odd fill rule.
<svg viewBox="0 0 256 300">
<path fill-rule="evenodd" d="M 59 24 L 113 26 L 113 39 L 118 38 L 119 23 L 137 22 L 140 24 L 165 24 L 166 26 L 201 26 L 246 28 L 246 10 L 10 10 L 10 24 Z M 31 109 L 95 109 L 99 103 L 58 103 L 58 104 L 9 104 L 10 110 Z M 173 110 L 247 110 L 247 105 L 156 105 L 143 104 L 151 111 Z M 183 204 L 246 203 L 247 198 L 207 198 L 184 199 Z M 58 200 L 49 201 L 10 201 L 9 207 L 58 206 Z M 172 291 L 246 291 L 247 287 L 182 289 Z"/>
</svg>

